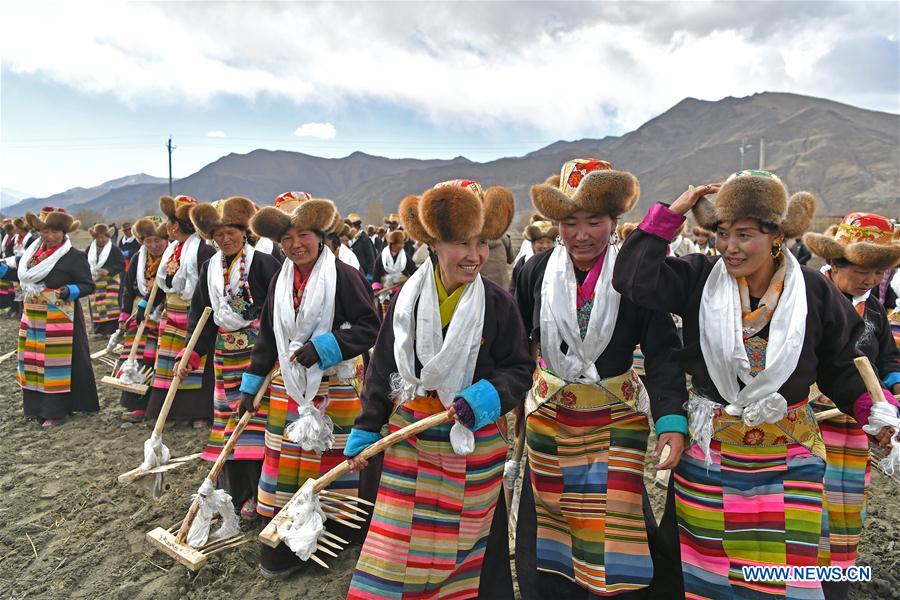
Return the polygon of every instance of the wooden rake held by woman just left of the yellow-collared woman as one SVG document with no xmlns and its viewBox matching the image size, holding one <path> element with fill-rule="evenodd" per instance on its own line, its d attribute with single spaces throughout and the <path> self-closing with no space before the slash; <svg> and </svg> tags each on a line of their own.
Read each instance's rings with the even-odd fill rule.
<svg viewBox="0 0 900 600">
<path fill-rule="evenodd" d="M 256 392 L 256 398 L 253 401 L 254 409 L 259 407 L 259 403 L 269 389 L 269 384 L 272 382 L 272 378 L 275 376 L 277 370 L 277 366 L 272 369 L 268 376 L 266 376 L 265 381 L 263 381 L 259 391 Z M 253 413 L 251 412 L 245 412 L 241 415 L 234 431 L 231 432 L 228 441 L 225 443 L 225 446 L 222 448 L 222 451 L 219 453 L 216 462 L 213 463 L 212 469 L 210 469 L 209 474 L 204 481 L 208 481 L 215 486 L 216 479 L 219 477 L 219 473 L 222 472 L 225 461 L 228 459 L 228 455 L 231 454 L 235 443 L 238 441 L 238 438 L 241 437 L 241 434 L 244 432 L 247 424 L 250 423 L 252 417 Z M 191 525 L 194 523 L 197 513 L 200 511 L 201 500 L 201 493 L 197 492 L 193 502 L 191 502 L 191 507 L 188 510 L 187 516 L 185 516 L 180 524 L 176 524 L 169 529 L 157 527 L 153 531 L 147 532 L 147 541 L 150 542 L 152 546 L 162 550 L 191 571 L 199 571 L 202 569 L 209 556 L 230 548 L 235 548 L 250 541 L 249 536 L 236 535 L 229 538 L 208 541 L 199 548 L 194 548 L 188 544 L 188 532 L 191 530 Z"/>
</svg>

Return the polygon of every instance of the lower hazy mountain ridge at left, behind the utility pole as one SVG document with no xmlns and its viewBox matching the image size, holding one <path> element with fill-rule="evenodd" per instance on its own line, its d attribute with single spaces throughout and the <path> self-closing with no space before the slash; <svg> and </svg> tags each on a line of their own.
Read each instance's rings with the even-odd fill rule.
<svg viewBox="0 0 900 600">
<path fill-rule="evenodd" d="M 317 197 L 338 200 L 365 182 L 417 169 L 440 165 L 465 168 L 465 158 L 453 160 L 390 159 L 354 152 L 344 158 L 320 158 L 285 150 L 254 150 L 229 154 L 189 177 L 178 180 L 173 190 L 209 200 L 242 195 L 260 204 L 290 190 L 302 190 Z M 159 197 L 168 193 L 167 184 L 124 186 L 73 206 L 90 208 L 108 220 L 135 217 L 159 210 Z M 341 204 L 343 207 L 343 204 Z"/>
</svg>

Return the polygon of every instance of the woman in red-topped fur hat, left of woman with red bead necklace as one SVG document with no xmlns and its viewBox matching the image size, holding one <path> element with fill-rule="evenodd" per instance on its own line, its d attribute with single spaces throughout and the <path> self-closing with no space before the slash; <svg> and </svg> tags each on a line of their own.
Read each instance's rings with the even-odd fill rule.
<svg viewBox="0 0 900 600">
<path fill-rule="evenodd" d="M 163 304 L 165 313 L 159 324 L 159 343 L 156 351 L 156 370 L 153 389 L 147 402 L 147 416 L 156 418 L 172 385 L 179 356 L 187 344 L 189 332 L 188 309 L 200 283 L 200 266 L 213 254 L 212 246 L 203 239 L 191 223 L 191 209 L 197 201 L 190 196 L 163 196 L 159 208 L 168 219 L 166 233 L 169 246 L 163 252 L 162 264 L 156 273 L 159 286 L 156 302 Z M 195 429 L 203 429 L 212 417 L 214 368 L 208 355 L 193 364 L 190 374 L 181 380 L 172 403 L 169 419 L 191 421 Z"/>
</svg>

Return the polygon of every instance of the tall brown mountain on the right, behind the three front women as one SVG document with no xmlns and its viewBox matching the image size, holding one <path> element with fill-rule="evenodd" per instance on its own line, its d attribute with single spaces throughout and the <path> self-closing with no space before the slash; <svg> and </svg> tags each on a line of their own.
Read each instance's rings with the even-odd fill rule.
<svg viewBox="0 0 900 600">
<path fill-rule="evenodd" d="M 641 199 L 626 218 L 638 219 L 653 202 L 674 200 L 689 184 L 721 181 L 738 170 L 742 139 L 750 146 L 745 168 L 757 168 L 760 138 L 765 168 L 790 190 L 815 193 L 818 214 L 853 208 L 896 216 L 900 210 L 900 116 L 772 92 L 716 102 L 687 98 L 619 137 L 555 142 L 520 158 L 472 163 L 465 171 L 441 166 L 373 180 L 342 197 L 342 210 L 373 197 L 392 208 L 407 194 L 461 176 L 507 186 L 517 208 L 530 210 L 531 184 L 566 160 L 597 157 L 637 175 Z"/>
</svg>

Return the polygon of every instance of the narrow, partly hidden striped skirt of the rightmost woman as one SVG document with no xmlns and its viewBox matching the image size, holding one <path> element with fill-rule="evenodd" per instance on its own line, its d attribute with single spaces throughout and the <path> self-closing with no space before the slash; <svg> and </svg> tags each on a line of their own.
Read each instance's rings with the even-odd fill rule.
<svg viewBox="0 0 900 600">
<path fill-rule="evenodd" d="M 814 405 L 828 410 L 834 403 L 819 396 Z M 872 481 L 869 439 L 855 419 L 845 414 L 819 423 L 825 441 L 825 509 L 819 564 L 856 564 L 859 536 L 866 513 L 866 491 Z"/>
</svg>

